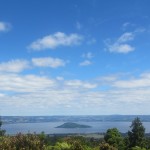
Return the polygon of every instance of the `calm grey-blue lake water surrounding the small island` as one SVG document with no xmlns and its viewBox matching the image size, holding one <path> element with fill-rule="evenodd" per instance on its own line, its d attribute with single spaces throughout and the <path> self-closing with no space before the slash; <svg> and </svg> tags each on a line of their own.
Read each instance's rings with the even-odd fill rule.
<svg viewBox="0 0 150 150">
<path fill-rule="evenodd" d="M 78 124 L 89 125 L 91 128 L 84 129 L 62 129 L 55 128 L 62 125 L 64 122 L 45 122 L 45 123 L 17 123 L 4 124 L 3 129 L 7 134 L 22 133 L 40 133 L 44 131 L 46 134 L 62 134 L 62 133 L 96 133 L 105 132 L 109 128 L 116 127 L 120 132 L 125 133 L 130 130 L 131 122 L 76 122 Z M 143 122 L 146 128 L 146 133 L 150 133 L 150 122 Z"/>
</svg>

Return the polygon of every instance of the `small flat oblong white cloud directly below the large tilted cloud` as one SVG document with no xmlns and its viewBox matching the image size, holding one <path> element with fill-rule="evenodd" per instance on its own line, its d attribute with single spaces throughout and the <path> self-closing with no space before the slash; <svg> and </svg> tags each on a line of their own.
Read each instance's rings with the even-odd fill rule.
<svg viewBox="0 0 150 150">
<path fill-rule="evenodd" d="M 45 57 L 45 58 L 32 58 L 32 63 L 37 67 L 63 67 L 66 65 L 66 62 L 59 58 Z"/>
</svg>

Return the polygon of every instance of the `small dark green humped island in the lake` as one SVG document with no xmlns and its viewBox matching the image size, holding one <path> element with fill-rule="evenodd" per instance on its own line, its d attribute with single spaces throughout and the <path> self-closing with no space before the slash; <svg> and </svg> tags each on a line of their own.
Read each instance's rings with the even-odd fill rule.
<svg viewBox="0 0 150 150">
<path fill-rule="evenodd" d="M 57 126 L 56 128 L 91 128 L 91 126 L 77 124 L 77 123 L 73 123 L 73 122 L 66 122 L 60 126 Z"/>
</svg>

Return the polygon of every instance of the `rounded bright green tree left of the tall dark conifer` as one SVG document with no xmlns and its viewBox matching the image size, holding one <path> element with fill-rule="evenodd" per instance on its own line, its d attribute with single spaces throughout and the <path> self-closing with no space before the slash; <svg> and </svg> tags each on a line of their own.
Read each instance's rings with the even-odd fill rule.
<svg viewBox="0 0 150 150">
<path fill-rule="evenodd" d="M 118 150 L 123 150 L 125 147 L 123 138 L 117 128 L 108 129 L 104 139 L 108 144 L 112 145 Z"/>
</svg>

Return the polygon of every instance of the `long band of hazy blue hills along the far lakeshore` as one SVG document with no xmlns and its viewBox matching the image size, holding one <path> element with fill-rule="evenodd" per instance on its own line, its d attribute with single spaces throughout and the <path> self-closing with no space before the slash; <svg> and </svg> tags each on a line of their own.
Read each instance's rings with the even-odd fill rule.
<svg viewBox="0 0 150 150">
<path fill-rule="evenodd" d="M 139 117 L 150 122 L 150 115 L 96 115 L 96 116 L 1 116 L 4 124 L 42 122 L 132 122 Z"/>
</svg>

